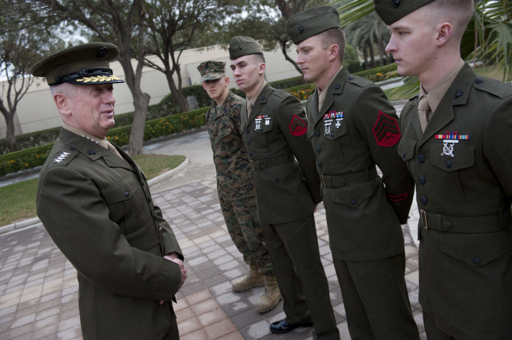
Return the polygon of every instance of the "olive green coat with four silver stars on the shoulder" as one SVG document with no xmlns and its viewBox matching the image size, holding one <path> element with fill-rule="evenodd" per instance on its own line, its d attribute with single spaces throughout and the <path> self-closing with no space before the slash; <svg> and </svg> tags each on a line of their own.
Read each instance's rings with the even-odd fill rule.
<svg viewBox="0 0 512 340">
<path fill-rule="evenodd" d="M 39 175 L 37 214 L 78 271 L 84 340 L 161 339 L 176 327 L 170 301 L 181 279 L 162 256 L 181 250 L 140 168 L 117 150 L 124 160 L 61 129 Z"/>
</svg>

